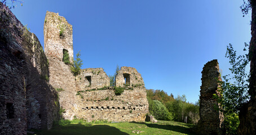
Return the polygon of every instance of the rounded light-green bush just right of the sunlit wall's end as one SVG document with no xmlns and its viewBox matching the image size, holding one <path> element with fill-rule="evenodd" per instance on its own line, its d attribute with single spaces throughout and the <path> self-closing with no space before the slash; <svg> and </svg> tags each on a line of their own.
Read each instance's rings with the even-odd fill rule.
<svg viewBox="0 0 256 135">
<path fill-rule="evenodd" d="M 158 120 L 173 120 L 173 115 L 166 109 L 164 104 L 158 100 L 151 101 L 149 112 Z"/>
</svg>

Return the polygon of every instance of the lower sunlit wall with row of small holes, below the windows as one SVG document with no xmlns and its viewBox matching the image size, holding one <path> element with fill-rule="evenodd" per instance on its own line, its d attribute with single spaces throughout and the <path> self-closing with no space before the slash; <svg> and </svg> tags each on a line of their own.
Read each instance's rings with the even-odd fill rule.
<svg viewBox="0 0 256 135">
<path fill-rule="evenodd" d="M 148 113 L 145 89 L 134 88 L 115 95 L 114 89 L 80 92 L 76 117 L 111 122 L 143 122 Z"/>
</svg>

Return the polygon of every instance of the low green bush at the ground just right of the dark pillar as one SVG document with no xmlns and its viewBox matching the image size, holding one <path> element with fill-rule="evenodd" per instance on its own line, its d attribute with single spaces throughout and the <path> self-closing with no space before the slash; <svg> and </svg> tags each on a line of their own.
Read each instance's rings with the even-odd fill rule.
<svg viewBox="0 0 256 135">
<path fill-rule="evenodd" d="M 237 134 L 237 128 L 239 127 L 239 124 L 239 116 L 236 113 L 224 116 L 224 131 L 226 134 Z"/>
</svg>

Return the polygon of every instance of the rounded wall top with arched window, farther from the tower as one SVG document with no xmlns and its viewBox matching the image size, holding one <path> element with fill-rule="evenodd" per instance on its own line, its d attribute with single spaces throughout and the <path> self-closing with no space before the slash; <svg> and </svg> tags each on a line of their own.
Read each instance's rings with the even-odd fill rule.
<svg viewBox="0 0 256 135">
<path fill-rule="evenodd" d="M 144 81 L 142 75 L 135 68 L 123 66 L 117 73 L 116 86 L 144 87 Z"/>
</svg>

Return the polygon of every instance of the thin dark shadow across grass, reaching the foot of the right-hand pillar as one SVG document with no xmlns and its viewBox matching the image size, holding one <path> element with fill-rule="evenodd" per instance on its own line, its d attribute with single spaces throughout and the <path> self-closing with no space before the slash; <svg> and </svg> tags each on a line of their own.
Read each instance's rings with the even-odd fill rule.
<svg viewBox="0 0 256 135">
<path fill-rule="evenodd" d="M 144 123 L 144 122 L 130 122 L 130 123 L 145 124 L 147 125 L 147 127 L 150 127 L 150 128 L 165 129 L 165 130 L 184 133 L 184 134 L 191 134 L 191 135 L 197 134 L 192 128 L 186 128 L 179 125 L 162 125 L 162 124 Z"/>
</svg>

